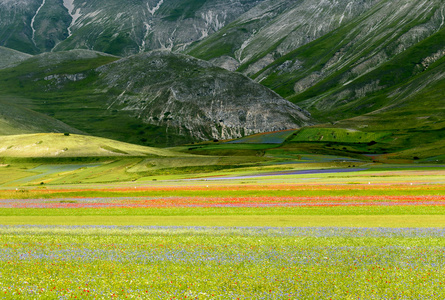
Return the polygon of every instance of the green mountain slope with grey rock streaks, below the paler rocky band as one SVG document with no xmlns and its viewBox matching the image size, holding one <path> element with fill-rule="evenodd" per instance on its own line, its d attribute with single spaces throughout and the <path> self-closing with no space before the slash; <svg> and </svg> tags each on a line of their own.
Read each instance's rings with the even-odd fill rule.
<svg viewBox="0 0 445 300">
<path fill-rule="evenodd" d="M 380 1 L 253 77 L 319 117 L 371 112 L 389 102 L 369 101 L 371 93 L 409 80 L 444 56 L 444 16 L 440 1 Z"/>
</svg>

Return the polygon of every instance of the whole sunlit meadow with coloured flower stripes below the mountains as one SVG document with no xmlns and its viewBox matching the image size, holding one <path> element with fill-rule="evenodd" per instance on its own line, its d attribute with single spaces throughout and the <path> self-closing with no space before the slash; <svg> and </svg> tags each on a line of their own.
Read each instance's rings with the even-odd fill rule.
<svg viewBox="0 0 445 300">
<path fill-rule="evenodd" d="M 0 298 L 444 297 L 443 166 L 196 147 L 220 156 L 5 158 Z"/>
</svg>

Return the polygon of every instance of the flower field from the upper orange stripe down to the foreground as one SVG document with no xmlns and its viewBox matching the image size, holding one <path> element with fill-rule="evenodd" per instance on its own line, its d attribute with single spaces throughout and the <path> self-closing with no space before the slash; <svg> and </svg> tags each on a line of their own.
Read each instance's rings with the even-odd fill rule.
<svg viewBox="0 0 445 300">
<path fill-rule="evenodd" d="M 444 204 L 415 181 L 2 190 L 0 299 L 443 299 Z"/>
</svg>

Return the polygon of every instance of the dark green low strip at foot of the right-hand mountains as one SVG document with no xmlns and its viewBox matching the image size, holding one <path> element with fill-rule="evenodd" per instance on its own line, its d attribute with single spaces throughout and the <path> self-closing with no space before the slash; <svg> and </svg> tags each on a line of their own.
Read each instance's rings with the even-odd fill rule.
<svg viewBox="0 0 445 300">
<path fill-rule="evenodd" d="M 343 121 L 352 128 L 353 121 Z M 207 143 L 178 148 L 200 155 L 250 155 L 293 162 L 361 161 L 443 163 L 443 130 L 358 130 L 340 126 L 305 127 L 295 132 L 253 135 L 228 143 Z M 366 128 L 368 129 L 368 128 Z M 277 134 L 287 136 L 282 143 Z"/>
</svg>

